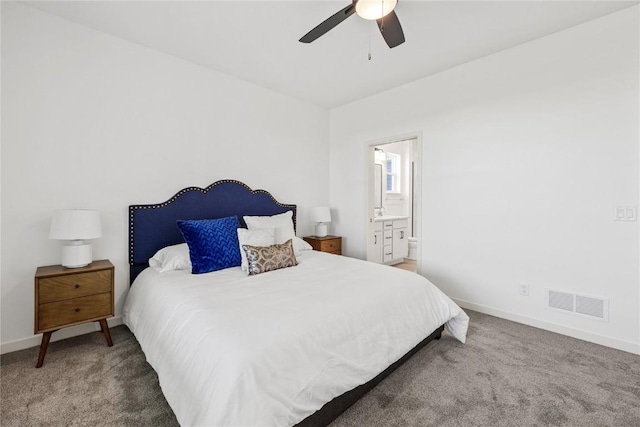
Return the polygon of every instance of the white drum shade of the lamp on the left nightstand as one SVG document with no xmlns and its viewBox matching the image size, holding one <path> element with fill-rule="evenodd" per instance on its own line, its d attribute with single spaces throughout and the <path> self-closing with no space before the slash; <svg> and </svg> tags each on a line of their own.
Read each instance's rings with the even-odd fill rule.
<svg viewBox="0 0 640 427">
<path fill-rule="evenodd" d="M 51 220 L 49 238 L 56 240 L 85 240 L 102 237 L 100 213 L 86 209 L 57 210 Z"/>
</svg>

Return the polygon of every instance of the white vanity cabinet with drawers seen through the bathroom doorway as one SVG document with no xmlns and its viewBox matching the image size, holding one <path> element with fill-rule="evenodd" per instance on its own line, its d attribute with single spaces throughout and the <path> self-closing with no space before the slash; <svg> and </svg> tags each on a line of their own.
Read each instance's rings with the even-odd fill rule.
<svg viewBox="0 0 640 427">
<path fill-rule="evenodd" d="M 377 218 L 373 229 L 374 262 L 385 264 L 402 262 L 409 255 L 408 231 L 407 217 Z"/>
</svg>

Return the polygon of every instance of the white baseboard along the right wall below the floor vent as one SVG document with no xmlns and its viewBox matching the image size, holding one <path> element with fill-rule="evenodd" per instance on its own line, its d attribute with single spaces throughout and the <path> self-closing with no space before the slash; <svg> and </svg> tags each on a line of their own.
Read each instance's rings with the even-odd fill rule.
<svg viewBox="0 0 640 427">
<path fill-rule="evenodd" d="M 491 316 L 499 317 L 501 319 L 511 320 L 513 322 L 522 323 L 524 325 L 533 326 L 535 328 L 544 329 L 545 331 L 551 331 L 562 335 L 567 335 L 573 338 L 577 338 L 583 341 L 589 341 L 595 344 L 600 344 L 605 347 L 615 348 L 617 350 L 626 351 L 633 354 L 640 354 L 640 344 L 617 340 L 614 338 L 594 334 L 591 332 L 583 331 L 580 329 L 574 329 L 567 326 L 558 325 L 555 323 L 546 322 L 544 320 L 534 319 L 520 314 L 511 313 L 509 311 L 498 310 L 496 308 L 487 307 L 485 305 L 475 304 L 469 301 L 452 298 L 456 304 L 462 308 L 468 308 L 469 310 L 477 311 Z"/>
</svg>

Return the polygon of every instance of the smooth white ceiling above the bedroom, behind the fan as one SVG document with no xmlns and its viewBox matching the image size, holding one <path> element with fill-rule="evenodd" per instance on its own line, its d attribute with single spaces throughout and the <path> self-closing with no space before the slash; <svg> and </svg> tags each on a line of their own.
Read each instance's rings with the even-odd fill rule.
<svg viewBox="0 0 640 427">
<path fill-rule="evenodd" d="M 349 1 L 22 3 L 326 108 L 638 4 L 400 0 L 407 41 L 394 49 L 357 15 L 311 44 L 298 42 Z"/>
</svg>

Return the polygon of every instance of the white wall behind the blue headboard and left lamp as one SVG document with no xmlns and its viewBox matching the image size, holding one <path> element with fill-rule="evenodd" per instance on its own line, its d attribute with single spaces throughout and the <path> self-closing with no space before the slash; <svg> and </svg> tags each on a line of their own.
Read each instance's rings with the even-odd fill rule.
<svg viewBox="0 0 640 427">
<path fill-rule="evenodd" d="M 238 179 L 297 203 L 305 235 L 308 207 L 329 200 L 328 111 L 7 2 L 2 124 L 3 352 L 37 343 L 33 275 L 60 262 L 55 209 L 100 211 L 94 258 L 116 266 L 119 315 L 129 204 Z"/>
</svg>

